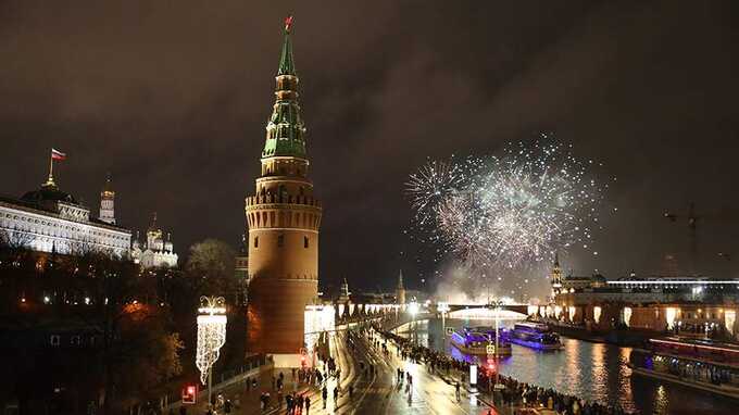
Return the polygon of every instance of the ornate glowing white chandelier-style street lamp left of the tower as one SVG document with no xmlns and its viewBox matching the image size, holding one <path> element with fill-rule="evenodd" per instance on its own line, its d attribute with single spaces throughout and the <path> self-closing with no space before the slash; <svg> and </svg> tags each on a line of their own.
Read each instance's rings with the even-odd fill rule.
<svg viewBox="0 0 739 415">
<path fill-rule="evenodd" d="M 208 381 L 208 404 L 211 404 L 213 365 L 226 342 L 226 300 L 223 297 L 201 297 L 198 309 L 198 349 L 196 366 L 200 370 L 200 381 Z"/>
</svg>

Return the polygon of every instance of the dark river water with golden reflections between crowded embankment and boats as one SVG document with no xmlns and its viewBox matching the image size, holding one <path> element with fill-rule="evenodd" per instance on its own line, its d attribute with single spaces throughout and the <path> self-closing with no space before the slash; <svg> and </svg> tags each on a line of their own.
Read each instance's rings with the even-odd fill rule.
<svg viewBox="0 0 739 415">
<path fill-rule="evenodd" d="M 493 325 L 493 322 L 447 319 L 448 327 Z M 510 324 L 508 325 L 510 326 Z M 451 345 L 440 320 L 416 326 L 419 344 L 443 350 L 454 359 L 479 363 Z M 409 336 L 410 337 L 410 336 Z M 513 344 L 513 356 L 501 360 L 501 373 L 590 401 L 621 404 L 642 414 L 737 414 L 738 401 L 642 376 L 626 366 L 630 348 L 563 338 L 561 351 L 541 352 Z M 485 360 L 485 356 L 483 356 Z"/>
</svg>

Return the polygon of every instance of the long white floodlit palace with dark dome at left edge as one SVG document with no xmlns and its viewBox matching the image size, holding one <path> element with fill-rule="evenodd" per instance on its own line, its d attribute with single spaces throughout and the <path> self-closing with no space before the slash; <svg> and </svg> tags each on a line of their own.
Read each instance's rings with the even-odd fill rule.
<svg viewBox="0 0 739 415">
<path fill-rule="evenodd" d="M 109 180 L 101 192 L 104 216 L 92 217 L 87 206 L 60 190 L 50 171 L 38 190 L 20 199 L 0 197 L 0 240 L 37 252 L 80 255 L 98 251 L 126 257 L 131 234 L 115 225 L 114 196 Z"/>
</svg>

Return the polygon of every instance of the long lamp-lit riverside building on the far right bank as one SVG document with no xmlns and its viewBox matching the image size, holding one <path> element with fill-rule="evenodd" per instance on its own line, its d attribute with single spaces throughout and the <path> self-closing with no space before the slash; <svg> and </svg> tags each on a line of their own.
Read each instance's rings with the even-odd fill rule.
<svg viewBox="0 0 739 415">
<path fill-rule="evenodd" d="M 647 276 L 608 279 L 568 275 L 552 269 L 552 302 L 540 307 L 547 317 L 591 329 L 629 327 L 671 330 L 687 336 L 739 332 L 739 279 Z"/>
</svg>

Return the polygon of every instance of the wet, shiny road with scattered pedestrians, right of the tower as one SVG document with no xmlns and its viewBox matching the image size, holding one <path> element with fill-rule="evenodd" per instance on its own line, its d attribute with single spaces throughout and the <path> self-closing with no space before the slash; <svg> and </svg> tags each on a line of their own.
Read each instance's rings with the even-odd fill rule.
<svg viewBox="0 0 739 415">
<path fill-rule="evenodd" d="M 383 341 L 377 334 L 362 334 L 359 330 L 337 330 L 329 334 L 329 353 L 341 369 L 340 379 L 330 377 L 326 380 L 328 398 L 326 407 L 322 399 L 321 390 L 316 387 L 308 387 L 302 383 L 297 390 L 311 399 L 310 414 L 317 415 L 387 415 L 387 414 L 498 414 L 484 401 L 478 401 L 474 394 L 462 390 L 461 401 L 454 397 L 454 386 L 444 381 L 437 375 L 429 374 L 422 364 L 415 364 L 410 360 L 399 357 L 398 348 L 388 340 L 387 355 L 381 347 L 372 345 L 371 338 Z M 364 365 L 365 370 L 361 367 Z M 371 374 L 368 366 L 375 370 Z M 324 363 L 318 362 L 317 367 L 325 372 Z M 411 374 L 412 388 L 406 392 L 406 381 L 398 382 L 396 369 L 400 367 Z M 271 379 L 277 376 L 279 369 L 265 372 L 260 376 L 256 389 L 246 390 L 241 383 L 228 387 L 222 391 L 233 402 L 240 402 L 234 407 L 231 414 L 285 414 L 286 406 L 283 402 L 278 406 L 276 392 L 270 388 Z M 286 377 L 286 390 L 292 391 L 290 370 L 284 370 Z M 334 388 L 340 386 L 339 398 L 334 400 Z M 350 397 L 349 388 L 353 387 Z M 259 410 L 259 394 L 270 392 L 272 394 L 271 407 L 267 411 Z M 204 414 L 205 404 L 200 402 L 196 407 L 188 407 L 187 414 Z M 218 412 L 221 415 L 222 412 Z M 308 415 L 303 411 L 304 415 Z"/>
</svg>

